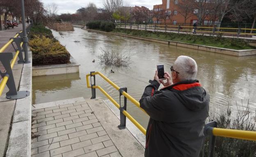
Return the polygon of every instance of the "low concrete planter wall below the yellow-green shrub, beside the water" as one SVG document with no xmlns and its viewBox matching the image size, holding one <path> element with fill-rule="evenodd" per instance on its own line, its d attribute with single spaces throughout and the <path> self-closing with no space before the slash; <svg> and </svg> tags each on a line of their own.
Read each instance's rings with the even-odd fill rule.
<svg viewBox="0 0 256 157">
<path fill-rule="evenodd" d="M 33 66 L 32 76 L 78 73 L 80 64 L 77 64 L 73 57 L 70 58 L 70 62 L 68 64 Z"/>
</svg>

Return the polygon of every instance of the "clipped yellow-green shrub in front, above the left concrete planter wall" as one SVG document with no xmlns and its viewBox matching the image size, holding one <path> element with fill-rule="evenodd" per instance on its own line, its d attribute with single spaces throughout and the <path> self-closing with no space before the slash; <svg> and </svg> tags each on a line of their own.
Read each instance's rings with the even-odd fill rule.
<svg viewBox="0 0 256 157">
<path fill-rule="evenodd" d="M 34 35 L 29 46 L 32 51 L 33 65 L 69 63 L 69 52 L 57 40 L 47 38 L 44 35 Z"/>
</svg>

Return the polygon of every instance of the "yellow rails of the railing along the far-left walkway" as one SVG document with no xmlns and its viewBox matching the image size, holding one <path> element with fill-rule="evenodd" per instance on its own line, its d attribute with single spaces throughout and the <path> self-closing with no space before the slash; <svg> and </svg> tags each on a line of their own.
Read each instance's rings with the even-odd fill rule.
<svg viewBox="0 0 256 157">
<path fill-rule="evenodd" d="M 20 31 L 20 33 L 22 33 L 22 31 Z M 18 37 L 18 33 L 14 36 L 14 38 L 17 38 L 17 37 Z M 4 46 L 2 46 L 1 49 L 0 49 L 0 53 L 4 52 L 5 49 L 7 49 L 7 47 L 8 47 L 12 42 L 13 42 L 13 39 L 9 40 Z M 22 45 L 23 45 L 23 42 L 21 42 L 21 47 L 22 47 Z M 15 55 L 14 55 L 14 57 L 13 57 L 13 59 L 11 60 L 11 69 L 13 68 L 13 66 L 14 66 L 14 64 L 15 64 L 19 53 L 20 53 L 20 51 L 17 50 L 16 53 L 15 53 Z M 2 82 L 0 83 L 0 96 L 2 95 L 2 92 L 4 91 L 4 88 L 5 88 L 5 86 L 6 86 L 6 83 L 7 83 L 8 79 L 9 79 L 9 76 L 4 76 L 4 77 L 2 78 Z"/>
</svg>

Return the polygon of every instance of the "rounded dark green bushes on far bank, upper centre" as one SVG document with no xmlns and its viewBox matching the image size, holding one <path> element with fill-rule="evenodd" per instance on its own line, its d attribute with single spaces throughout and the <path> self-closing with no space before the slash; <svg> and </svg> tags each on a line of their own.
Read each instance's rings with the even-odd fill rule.
<svg viewBox="0 0 256 157">
<path fill-rule="evenodd" d="M 86 28 L 88 29 L 101 29 L 102 31 L 110 32 L 115 29 L 115 25 L 113 22 L 108 21 L 91 21 L 86 24 Z"/>
</svg>

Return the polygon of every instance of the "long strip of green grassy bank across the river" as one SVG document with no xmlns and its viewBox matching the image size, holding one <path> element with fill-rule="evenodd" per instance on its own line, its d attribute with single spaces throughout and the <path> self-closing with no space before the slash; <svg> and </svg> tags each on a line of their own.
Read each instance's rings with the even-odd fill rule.
<svg viewBox="0 0 256 157">
<path fill-rule="evenodd" d="M 219 48 L 225 48 L 225 49 L 235 49 L 235 50 L 256 49 L 256 47 L 248 45 L 243 39 L 224 38 L 222 37 L 222 34 L 218 34 L 216 37 L 216 36 L 181 34 L 181 33 L 151 32 L 151 31 L 133 30 L 133 29 L 114 29 L 112 32 L 135 35 L 139 37 L 170 40 L 175 42 L 185 42 L 188 44 L 213 46 L 213 47 L 219 47 Z"/>
</svg>

